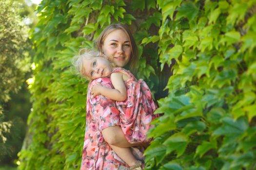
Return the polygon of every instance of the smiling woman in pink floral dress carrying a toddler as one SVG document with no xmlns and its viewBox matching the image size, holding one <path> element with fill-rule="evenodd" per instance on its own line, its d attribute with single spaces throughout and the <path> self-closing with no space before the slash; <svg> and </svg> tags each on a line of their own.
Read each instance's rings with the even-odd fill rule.
<svg viewBox="0 0 256 170">
<path fill-rule="evenodd" d="M 124 48 L 127 44 L 131 48 Z M 98 51 L 109 56 L 109 60 L 118 67 L 128 67 L 136 70 L 138 50 L 129 28 L 122 24 L 112 24 L 106 27 L 98 37 Z M 81 170 L 125 170 L 125 163 L 113 152 L 109 145 L 118 147 L 134 147 L 138 144 L 129 143 L 120 127 L 119 111 L 115 101 L 102 95 L 93 98 L 91 88 L 97 82 L 113 88 L 109 78 L 99 78 L 90 83 L 87 92 L 86 132 L 84 139 Z M 147 145 L 142 143 L 140 145 Z M 133 148 L 137 159 L 142 158 L 142 152 Z M 140 167 L 135 162 L 132 169 Z"/>
</svg>

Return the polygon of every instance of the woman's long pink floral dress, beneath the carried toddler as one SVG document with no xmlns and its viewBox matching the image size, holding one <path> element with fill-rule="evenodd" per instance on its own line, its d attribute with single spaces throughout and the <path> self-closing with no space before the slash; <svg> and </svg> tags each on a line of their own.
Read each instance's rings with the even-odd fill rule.
<svg viewBox="0 0 256 170">
<path fill-rule="evenodd" d="M 90 91 L 96 82 L 113 88 L 109 78 L 96 79 L 88 86 L 86 129 L 80 170 L 119 170 L 125 163 L 104 141 L 101 134 L 104 128 L 120 125 L 119 111 L 115 101 L 102 95 L 93 98 Z"/>
</svg>

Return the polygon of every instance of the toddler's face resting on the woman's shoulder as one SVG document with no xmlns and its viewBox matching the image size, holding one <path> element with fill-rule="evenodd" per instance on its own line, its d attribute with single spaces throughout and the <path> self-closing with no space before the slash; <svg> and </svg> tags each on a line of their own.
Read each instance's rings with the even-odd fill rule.
<svg viewBox="0 0 256 170">
<path fill-rule="evenodd" d="M 109 77 L 112 67 L 107 59 L 103 57 L 94 57 L 84 61 L 83 70 L 85 76 L 94 80 L 100 77 Z"/>
</svg>

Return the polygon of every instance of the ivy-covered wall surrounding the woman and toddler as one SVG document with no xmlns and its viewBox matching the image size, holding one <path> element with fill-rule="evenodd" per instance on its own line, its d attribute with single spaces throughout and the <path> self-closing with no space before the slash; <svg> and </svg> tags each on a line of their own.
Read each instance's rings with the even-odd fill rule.
<svg viewBox="0 0 256 170">
<path fill-rule="evenodd" d="M 164 113 L 149 133 L 147 169 L 256 168 L 255 0 L 43 0 L 38 12 L 21 170 L 79 169 L 88 82 L 71 58 L 115 22 L 130 25 L 137 77 Z"/>
</svg>

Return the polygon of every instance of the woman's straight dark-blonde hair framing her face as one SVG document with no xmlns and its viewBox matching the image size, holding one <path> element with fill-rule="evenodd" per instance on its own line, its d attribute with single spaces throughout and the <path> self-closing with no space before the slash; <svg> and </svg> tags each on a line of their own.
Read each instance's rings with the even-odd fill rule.
<svg viewBox="0 0 256 170">
<path fill-rule="evenodd" d="M 138 64 L 138 47 L 136 45 L 136 42 L 133 38 L 133 34 L 128 28 L 128 26 L 117 23 L 117 24 L 111 24 L 107 26 L 101 34 L 99 34 L 98 39 L 97 39 L 97 48 L 100 53 L 104 53 L 102 49 L 102 45 L 104 43 L 104 40 L 108 36 L 108 34 L 112 33 L 115 30 L 122 30 L 124 33 L 128 36 L 131 46 L 132 46 L 132 53 L 131 53 L 131 58 L 126 66 L 131 72 L 135 73 L 137 71 L 137 64 Z"/>
</svg>

